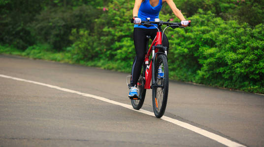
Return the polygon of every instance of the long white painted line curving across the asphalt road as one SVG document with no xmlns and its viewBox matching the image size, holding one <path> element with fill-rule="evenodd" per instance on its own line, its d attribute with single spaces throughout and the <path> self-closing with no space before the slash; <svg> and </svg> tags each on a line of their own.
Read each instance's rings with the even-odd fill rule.
<svg viewBox="0 0 264 147">
<path fill-rule="evenodd" d="M 134 110 L 134 111 L 137 111 L 137 112 L 141 112 L 141 113 L 144 113 L 144 114 L 147 114 L 147 115 L 155 117 L 155 115 L 152 112 L 150 112 L 150 111 L 146 111 L 146 110 L 143 110 L 143 109 L 135 110 L 135 109 L 133 109 L 133 107 L 131 105 L 124 104 L 124 103 L 121 103 L 121 102 L 117 102 L 117 101 L 114 101 L 114 100 L 110 100 L 110 99 L 107 99 L 107 98 L 102 98 L 102 97 L 99 97 L 99 96 L 94 96 L 94 95 L 90 95 L 90 94 L 86 94 L 86 93 L 81 93 L 81 92 L 78 92 L 78 91 L 74 91 L 74 90 L 70 90 L 70 89 L 66 89 L 66 88 L 62 88 L 62 87 L 58 87 L 58 86 L 54 86 L 54 85 L 49 85 L 49 84 L 45 84 L 45 83 L 40 83 L 40 82 L 36 82 L 36 81 L 26 80 L 26 79 L 12 77 L 12 76 L 3 75 L 3 74 L 0 74 L 0 77 L 10 78 L 10 79 L 18 80 L 18 81 L 29 82 L 29 83 L 42 85 L 42 86 L 58 89 L 58 90 L 69 92 L 69 93 L 73 93 L 73 94 L 78 94 L 78 95 L 89 97 L 89 98 L 99 99 L 99 100 L 102 100 L 102 101 L 105 101 L 105 102 L 116 104 L 116 105 L 119 105 L 119 106 L 122 106 L 122 107 L 125 107 L 125 108 L 128 108 L 128 109 L 131 109 L 131 110 Z M 221 143 L 223 145 L 226 145 L 228 147 L 245 147 L 245 146 L 243 146 L 241 144 L 233 142 L 233 141 L 231 141 L 231 140 L 229 140 L 227 138 L 224 138 L 222 136 L 219 136 L 217 134 L 208 132 L 208 131 L 206 131 L 204 129 L 201 129 L 201 128 L 196 127 L 194 125 L 191 125 L 189 123 L 184 123 L 184 122 L 181 122 L 179 120 L 172 119 L 172 118 L 169 118 L 169 117 L 166 117 L 166 116 L 163 116 L 161 119 L 164 120 L 164 121 L 179 125 L 179 126 L 181 126 L 183 128 L 186 128 L 188 130 L 194 131 L 194 132 L 196 132 L 196 133 L 198 133 L 198 134 L 200 134 L 202 136 L 208 137 L 208 138 L 210 138 L 210 139 L 212 139 L 214 141 L 217 141 L 217 142 L 219 142 L 219 143 Z"/>
</svg>

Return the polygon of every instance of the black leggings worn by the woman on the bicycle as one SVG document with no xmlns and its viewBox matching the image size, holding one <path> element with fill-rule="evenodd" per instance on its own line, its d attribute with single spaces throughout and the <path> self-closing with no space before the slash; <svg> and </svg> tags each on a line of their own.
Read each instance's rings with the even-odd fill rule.
<svg viewBox="0 0 264 147">
<path fill-rule="evenodd" d="M 135 27 L 134 28 L 134 46 L 135 46 L 135 59 L 132 65 L 132 71 L 131 71 L 131 81 L 130 84 L 131 86 L 134 86 L 137 84 L 137 80 L 140 76 L 140 72 L 141 72 L 141 67 L 142 64 L 144 62 L 144 58 L 145 58 L 145 51 L 146 51 L 146 46 L 147 46 L 147 38 L 146 36 L 151 36 L 151 39 L 154 40 L 154 38 L 157 35 L 157 31 L 158 29 L 147 29 L 147 28 L 139 28 L 139 27 Z M 164 34 L 163 36 L 163 46 L 167 47 L 167 50 L 169 48 L 169 44 L 168 44 L 168 39 L 166 37 L 166 35 Z"/>
</svg>

